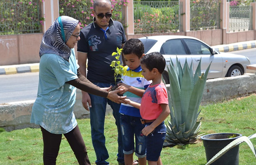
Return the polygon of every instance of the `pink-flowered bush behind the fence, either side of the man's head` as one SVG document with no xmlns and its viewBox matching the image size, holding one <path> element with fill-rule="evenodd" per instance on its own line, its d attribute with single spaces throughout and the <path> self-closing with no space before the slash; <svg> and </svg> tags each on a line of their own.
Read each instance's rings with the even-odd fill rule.
<svg viewBox="0 0 256 165">
<path fill-rule="evenodd" d="M 113 13 L 113 20 L 122 20 L 122 7 L 127 6 L 128 0 L 110 0 Z M 59 15 L 71 16 L 79 20 L 80 27 L 83 28 L 93 22 L 93 0 L 59 0 Z M 126 27 L 124 25 L 124 27 Z"/>
</svg>

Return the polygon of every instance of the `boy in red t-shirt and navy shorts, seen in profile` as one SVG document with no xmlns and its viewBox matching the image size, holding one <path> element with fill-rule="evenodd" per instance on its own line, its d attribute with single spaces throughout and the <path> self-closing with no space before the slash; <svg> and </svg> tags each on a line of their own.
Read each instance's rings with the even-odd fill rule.
<svg viewBox="0 0 256 165">
<path fill-rule="evenodd" d="M 170 114 L 168 95 L 165 84 L 162 82 L 162 73 L 165 69 L 165 59 L 159 52 L 145 55 L 141 59 L 142 75 L 152 83 L 145 90 L 141 104 L 129 99 L 124 101 L 135 108 L 139 108 L 142 123 L 145 123 L 143 135 L 147 136 L 148 165 L 162 165 L 160 153 L 166 135 L 164 120 Z"/>
</svg>

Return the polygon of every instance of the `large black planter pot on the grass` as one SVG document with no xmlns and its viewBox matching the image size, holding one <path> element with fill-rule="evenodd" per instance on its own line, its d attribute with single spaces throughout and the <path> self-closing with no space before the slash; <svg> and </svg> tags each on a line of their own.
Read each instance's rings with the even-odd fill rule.
<svg viewBox="0 0 256 165">
<path fill-rule="evenodd" d="M 215 156 L 220 150 L 222 150 L 231 141 L 241 137 L 241 134 L 236 134 L 236 138 L 228 138 L 235 133 L 219 133 L 209 134 L 201 137 L 204 143 L 204 149 L 206 153 L 207 162 Z M 231 148 L 219 159 L 211 163 L 211 165 L 238 165 L 239 164 L 239 145 Z"/>
</svg>

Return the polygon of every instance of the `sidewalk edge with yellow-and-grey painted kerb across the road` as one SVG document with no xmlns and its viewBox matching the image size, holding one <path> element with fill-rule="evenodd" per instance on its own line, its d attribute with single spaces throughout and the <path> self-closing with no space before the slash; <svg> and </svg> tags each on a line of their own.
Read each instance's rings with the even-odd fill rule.
<svg viewBox="0 0 256 165">
<path fill-rule="evenodd" d="M 216 51 L 228 52 L 256 48 L 256 40 L 211 46 Z M 254 65 L 256 68 L 256 65 Z M 0 66 L 0 75 L 39 72 L 39 63 Z"/>
</svg>

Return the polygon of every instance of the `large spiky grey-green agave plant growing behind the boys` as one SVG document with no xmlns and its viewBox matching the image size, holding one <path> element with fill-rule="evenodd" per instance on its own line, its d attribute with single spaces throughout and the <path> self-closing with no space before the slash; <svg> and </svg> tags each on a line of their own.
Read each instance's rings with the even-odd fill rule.
<svg viewBox="0 0 256 165">
<path fill-rule="evenodd" d="M 210 64 L 211 65 L 211 64 Z M 168 91 L 171 120 L 167 125 L 167 134 L 164 146 L 178 143 L 189 143 L 190 139 L 197 138 L 200 132 L 201 119 L 197 120 L 204 86 L 206 84 L 209 68 L 201 73 L 201 60 L 193 74 L 193 64 L 189 66 L 187 60 L 184 67 L 176 58 L 176 66 L 170 62 L 168 74 L 170 88 Z"/>
</svg>

